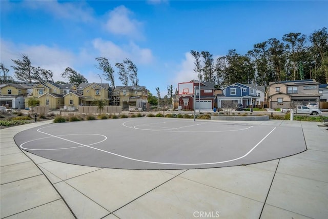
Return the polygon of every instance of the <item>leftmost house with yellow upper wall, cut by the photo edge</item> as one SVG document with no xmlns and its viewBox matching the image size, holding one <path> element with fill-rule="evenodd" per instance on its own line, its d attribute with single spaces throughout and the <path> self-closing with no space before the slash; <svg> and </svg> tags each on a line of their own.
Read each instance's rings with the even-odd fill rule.
<svg viewBox="0 0 328 219">
<path fill-rule="evenodd" d="M 23 84 L 6 83 L 0 85 L 0 106 L 12 109 L 24 108 L 24 96 L 30 86 Z"/>
</svg>

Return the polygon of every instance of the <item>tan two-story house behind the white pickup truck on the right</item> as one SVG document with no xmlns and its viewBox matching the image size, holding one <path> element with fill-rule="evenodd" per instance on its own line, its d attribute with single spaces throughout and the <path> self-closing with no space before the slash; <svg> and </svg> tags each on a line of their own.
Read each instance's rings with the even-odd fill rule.
<svg viewBox="0 0 328 219">
<path fill-rule="evenodd" d="M 290 108 L 296 105 L 305 105 L 309 102 L 318 103 L 321 94 L 319 84 L 315 79 L 282 81 L 269 83 L 270 108 Z"/>
</svg>

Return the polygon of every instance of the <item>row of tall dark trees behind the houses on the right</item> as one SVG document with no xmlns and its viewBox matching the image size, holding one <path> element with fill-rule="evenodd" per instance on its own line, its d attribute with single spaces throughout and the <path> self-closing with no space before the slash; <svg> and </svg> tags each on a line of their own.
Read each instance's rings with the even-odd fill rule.
<svg viewBox="0 0 328 219">
<path fill-rule="evenodd" d="M 328 33 L 324 27 L 309 36 L 284 34 L 257 43 L 247 54 L 235 49 L 214 61 L 208 51 L 190 51 L 198 79 L 215 82 L 218 88 L 234 83 L 269 86 L 273 81 L 316 79 L 328 83 Z"/>
</svg>

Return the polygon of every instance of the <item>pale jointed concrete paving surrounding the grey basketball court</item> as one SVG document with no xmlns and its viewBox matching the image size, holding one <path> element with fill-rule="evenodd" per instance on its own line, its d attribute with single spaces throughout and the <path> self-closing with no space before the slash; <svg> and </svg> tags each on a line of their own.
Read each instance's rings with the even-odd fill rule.
<svg viewBox="0 0 328 219">
<path fill-rule="evenodd" d="M 22 152 L 0 130 L 1 218 L 326 218 L 328 131 L 302 127 L 308 150 L 279 160 L 193 170 L 120 170 L 59 163 Z M 238 123 L 241 123 L 238 121 Z M 286 146 L 288 147 L 288 146 Z"/>
</svg>

